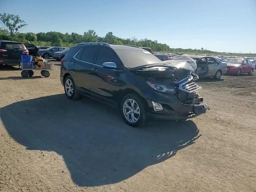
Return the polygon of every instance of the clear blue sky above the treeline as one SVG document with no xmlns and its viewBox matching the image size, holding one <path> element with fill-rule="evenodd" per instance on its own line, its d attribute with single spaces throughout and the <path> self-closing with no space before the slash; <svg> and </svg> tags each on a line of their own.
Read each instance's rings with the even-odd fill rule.
<svg viewBox="0 0 256 192">
<path fill-rule="evenodd" d="M 25 20 L 22 32 L 92 29 L 172 48 L 256 53 L 256 0 L 0 0 L 3 12 Z"/>
</svg>

